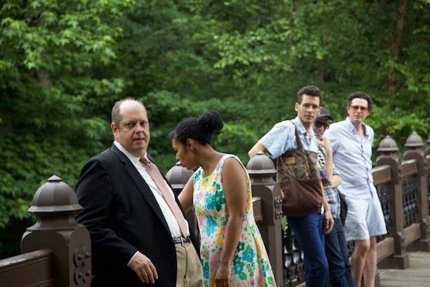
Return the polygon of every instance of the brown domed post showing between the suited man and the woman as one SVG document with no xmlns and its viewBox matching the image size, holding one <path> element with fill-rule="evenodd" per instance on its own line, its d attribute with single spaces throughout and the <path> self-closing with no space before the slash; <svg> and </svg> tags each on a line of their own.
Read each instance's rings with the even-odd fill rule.
<svg viewBox="0 0 430 287">
<path fill-rule="evenodd" d="M 193 174 L 193 170 L 187 170 L 187 168 L 181 166 L 181 161 L 178 161 L 174 167 L 167 171 L 165 177 L 167 181 L 169 181 L 176 195 L 179 195 L 185 184 L 187 184 L 188 179 L 190 179 Z M 198 239 L 200 239 L 200 232 L 198 231 L 198 224 L 194 215 L 194 208 L 191 208 L 191 210 L 187 212 L 186 216 L 188 223 L 194 230 L 194 234 Z"/>
</svg>

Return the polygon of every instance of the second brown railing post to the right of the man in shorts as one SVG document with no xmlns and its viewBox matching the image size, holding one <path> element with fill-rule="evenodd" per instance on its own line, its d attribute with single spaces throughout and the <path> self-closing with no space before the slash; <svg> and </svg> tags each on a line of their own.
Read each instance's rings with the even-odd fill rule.
<svg viewBox="0 0 430 287">
<path fill-rule="evenodd" d="M 416 132 L 413 132 L 412 135 L 407 138 L 405 147 L 407 148 L 407 150 L 405 151 L 403 159 L 405 161 L 408 159 L 416 159 L 417 162 L 416 185 L 418 188 L 418 223 L 420 224 L 420 240 L 418 240 L 418 242 L 410 244 L 410 246 L 408 246 L 408 249 L 429 252 L 429 205 L 427 202 L 429 196 L 429 189 L 427 186 L 427 167 L 424 161 L 424 142 L 422 141 L 420 135 L 418 135 Z"/>
</svg>

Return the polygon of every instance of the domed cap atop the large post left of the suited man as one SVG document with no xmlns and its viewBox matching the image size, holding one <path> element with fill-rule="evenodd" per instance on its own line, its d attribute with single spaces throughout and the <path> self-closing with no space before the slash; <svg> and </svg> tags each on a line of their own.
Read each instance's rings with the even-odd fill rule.
<svg viewBox="0 0 430 287">
<path fill-rule="evenodd" d="M 32 206 L 28 212 L 43 217 L 44 214 L 70 213 L 76 215 L 82 206 L 74 190 L 57 175 L 52 175 L 34 194 Z"/>
</svg>

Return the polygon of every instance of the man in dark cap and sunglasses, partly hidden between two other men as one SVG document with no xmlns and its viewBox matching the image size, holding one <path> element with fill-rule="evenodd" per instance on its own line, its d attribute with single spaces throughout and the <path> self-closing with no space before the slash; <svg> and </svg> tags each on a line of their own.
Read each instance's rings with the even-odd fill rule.
<svg viewBox="0 0 430 287">
<path fill-rule="evenodd" d="M 325 235 L 325 254 L 329 262 L 329 277 L 332 287 L 354 286 L 354 279 L 351 274 L 351 264 L 345 232 L 340 219 L 340 197 L 336 188 L 342 178 L 334 169 L 333 154 L 329 139 L 323 137 L 329 120 L 333 119 L 326 108 L 321 107 L 320 115 L 316 117 L 312 125 L 319 143 L 318 168 L 323 179 L 325 197 L 330 205 L 331 215 L 334 219 L 334 226 L 331 232 Z"/>
</svg>

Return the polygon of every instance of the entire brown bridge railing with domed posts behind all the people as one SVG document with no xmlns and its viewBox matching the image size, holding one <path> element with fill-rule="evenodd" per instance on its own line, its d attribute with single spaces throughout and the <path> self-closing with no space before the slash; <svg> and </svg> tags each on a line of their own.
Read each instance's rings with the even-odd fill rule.
<svg viewBox="0 0 430 287">
<path fill-rule="evenodd" d="M 402 161 L 398 146 L 386 137 L 378 146 L 373 182 L 378 190 L 388 234 L 378 237 L 380 268 L 408 268 L 409 250 L 430 252 L 430 137 L 424 151 L 413 133 Z M 247 164 L 252 180 L 254 218 L 263 237 L 278 286 L 304 281 L 303 252 L 280 208 L 280 188 L 272 160 L 258 154 Z M 167 179 L 181 192 L 192 171 L 176 164 Z M 29 208 L 37 223 L 23 234 L 21 255 L 0 260 L 0 282 L 6 286 L 90 286 L 90 235 L 74 220 L 81 210 L 72 188 L 52 176 L 34 195 Z M 194 213 L 187 215 L 198 232 Z M 351 246 L 351 245 L 350 245 Z M 354 246 L 351 246 L 351 250 Z M 378 276 L 376 286 L 378 286 Z"/>
</svg>

